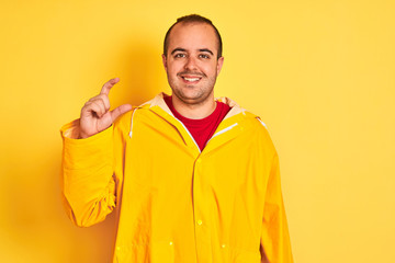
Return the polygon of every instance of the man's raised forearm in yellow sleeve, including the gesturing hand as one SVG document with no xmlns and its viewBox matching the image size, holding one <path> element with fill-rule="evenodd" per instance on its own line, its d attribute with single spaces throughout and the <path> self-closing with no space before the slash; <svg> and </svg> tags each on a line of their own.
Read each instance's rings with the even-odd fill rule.
<svg viewBox="0 0 395 263">
<path fill-rule="evenodd" d="M 110 110 L 109 92 L 117 79 L 106 82 L 98 96 L 81 110 L 81 117 L 61 128 L 63 197 L 69 218 L 80 227 L 105 219 L 115 207 L 112 124 L 132 108 Z"/>
</svg>

